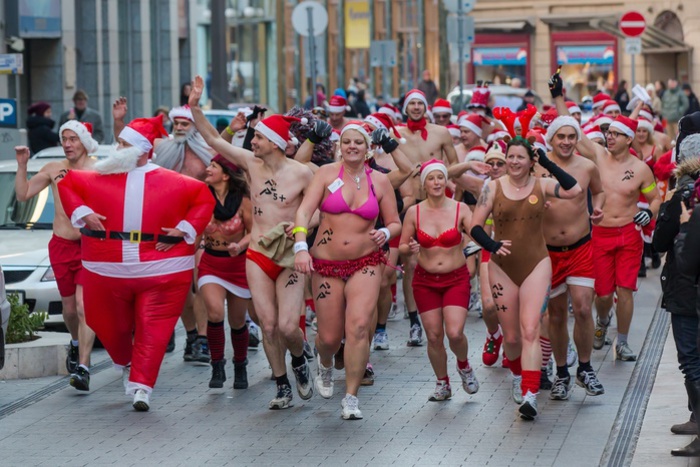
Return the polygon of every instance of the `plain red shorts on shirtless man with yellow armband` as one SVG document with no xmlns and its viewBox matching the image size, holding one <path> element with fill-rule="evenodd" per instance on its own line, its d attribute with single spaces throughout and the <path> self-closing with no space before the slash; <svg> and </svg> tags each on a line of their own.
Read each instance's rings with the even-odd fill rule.
<svg viewBox="0 0 700 467">
<path fill-rule="evenodd" d="M 593 226 L 595 293 L 610 295 L 615 287 L 637 290 L 644 242 L 636 224 L 622 227 Z"/>
</svg>

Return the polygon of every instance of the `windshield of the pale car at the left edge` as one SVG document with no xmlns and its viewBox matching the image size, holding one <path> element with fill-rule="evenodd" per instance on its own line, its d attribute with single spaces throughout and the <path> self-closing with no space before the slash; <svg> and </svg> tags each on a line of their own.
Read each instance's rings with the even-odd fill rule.
<svg viewBox="0 0 700 467">
<path fill-rule="evenodd" d="M 15 196 L 14 173 L 0 173 L 0 207 L 0 229 L 53 228 L 54 199 L 51 188 L 45 188 L 28 201 L 19 202 Z"/>
</svg>

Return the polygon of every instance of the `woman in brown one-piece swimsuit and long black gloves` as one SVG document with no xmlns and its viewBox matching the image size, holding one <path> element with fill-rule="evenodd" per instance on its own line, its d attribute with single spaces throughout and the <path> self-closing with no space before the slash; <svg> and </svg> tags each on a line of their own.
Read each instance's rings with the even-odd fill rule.
<svg viewBox="0 0 700 467">
<path fill-rule="evenodd" d="M 471 236 L 492 253 L 489 279 L 513 373 L 513 400 L 520 404 L 521 417 L 533 420 L 542 358 L 540 317 L 547 309 L 552 279 L 542 235 L 544 204 L 547 196 L 573 198 L 581 193 L 581 187 L 547 159 L 544 151 L 536 155 L 523 138 L 508 143 L 506 160 L 507 175 L 489 182 L 481 192 L 472 216 Z M 535 161 L 556 181 L 534 177 Z M 495 239 L 483 228 L 489 215 L 493 216 Z"/>
</svg>

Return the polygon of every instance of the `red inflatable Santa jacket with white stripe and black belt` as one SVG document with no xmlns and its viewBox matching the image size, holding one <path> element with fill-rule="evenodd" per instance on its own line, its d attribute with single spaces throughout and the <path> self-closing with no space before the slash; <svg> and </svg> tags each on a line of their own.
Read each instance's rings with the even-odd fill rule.
<svg viewBox="0 0 700 467">
<path fill-rule="evenodd" d="M 106 239 L 83 235 L 83 267 L 108 277 L 150 277 L 194 268 L 194 241 L 211 220 L 215 200 L 207 186 L 155 164 L 123 174 L 71 170 L 58 188 L 61 203 L 75 227 L 98 213 Z M 165 235 L 163 228 L 186 233 L 185 241 L 157 251 L 156 241 L 110 239 L 109 233 Z"/>
</svg>

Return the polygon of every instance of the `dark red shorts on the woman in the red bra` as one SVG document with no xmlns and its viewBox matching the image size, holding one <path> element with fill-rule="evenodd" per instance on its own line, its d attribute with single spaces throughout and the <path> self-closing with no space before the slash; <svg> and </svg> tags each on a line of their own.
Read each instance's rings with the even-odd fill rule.
<svg viewBox="0 0 700 467">
<path fill-rule="evenodd" d="M 469 306 L 470 284 L 466 264 L 443 274 L 432 274 L 416 265 L 412 285 L 418 313 L 446 306 Z"/>
</svg>

